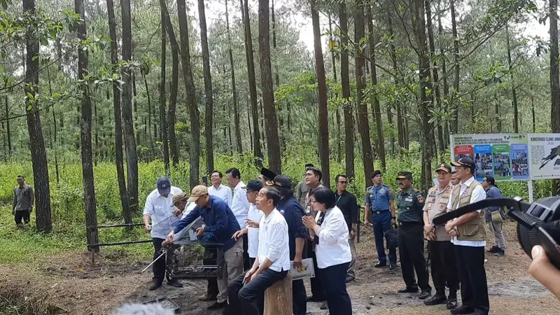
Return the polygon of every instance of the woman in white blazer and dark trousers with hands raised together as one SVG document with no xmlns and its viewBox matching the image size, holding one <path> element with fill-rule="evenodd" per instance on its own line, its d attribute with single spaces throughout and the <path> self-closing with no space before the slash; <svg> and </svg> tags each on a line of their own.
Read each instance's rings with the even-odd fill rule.
<svg viewBox="0 0 560 315">
<path fill-rule="evenodd" d="M 317 216 L 304 216 L 302 221 L 314 237 L 318 274 L 327 293 L 329 314 L 350 315 L 352 304 L 346 292 L 346 271 L 352 260 L 348 225 L 342 211 L 336 207 L 335 193 L 328 188 L 314 191 L 311 207 L 318 211 Z"/>
</svg>

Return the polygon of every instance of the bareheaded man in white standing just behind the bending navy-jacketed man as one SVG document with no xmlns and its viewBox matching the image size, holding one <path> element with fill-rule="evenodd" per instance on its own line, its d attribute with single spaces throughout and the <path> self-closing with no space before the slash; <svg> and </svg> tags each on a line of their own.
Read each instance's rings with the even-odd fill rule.
<svg viewBox="0 0 560 315">
<path fill-rule="evenodd" d="M 232 168 L 225 171 L 225 179 L 228 185 L 233 188 L 233 200 L 230 209 L 237 218 L 239 228 L 243 230 L 247 221 L 247 214 L 249 211 L 249 202 L 245 190 L 245 183 L 241 181 L 241 172 L 239 169 Z M 243 236 L 243 269 L 248 270 L 251 267 L 248 255 L 248 239 L 247 235 Z"/>
</svg>

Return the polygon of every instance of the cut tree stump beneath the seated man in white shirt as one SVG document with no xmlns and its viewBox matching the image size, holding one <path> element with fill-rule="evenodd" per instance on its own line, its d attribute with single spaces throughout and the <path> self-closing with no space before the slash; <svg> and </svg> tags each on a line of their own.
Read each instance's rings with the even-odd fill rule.
<svg viewBox="0 0 560 315">
<path fill-rule="evenodd" d="M 292 315 L 292 274 L 265 290 L 265 315 Z"/>
</svg>

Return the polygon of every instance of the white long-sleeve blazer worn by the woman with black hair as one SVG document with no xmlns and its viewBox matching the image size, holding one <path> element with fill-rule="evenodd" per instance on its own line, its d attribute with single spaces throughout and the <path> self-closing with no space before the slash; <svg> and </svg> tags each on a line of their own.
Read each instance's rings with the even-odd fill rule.
<svg viewBox="0 0 560 315">
<path fill-rule="evenodd" d="M 315 221 L 318 221 L 321 211 L 317 213 Z M 316 231 L 319 243 L 315 247 L 317 267 L 325 269 L 335 265 L 350 262 L 352 254 L 348 244 L 348 225 L 344 215 L 338 207 L 328 209 L 321 227 Z"/>
</svg>

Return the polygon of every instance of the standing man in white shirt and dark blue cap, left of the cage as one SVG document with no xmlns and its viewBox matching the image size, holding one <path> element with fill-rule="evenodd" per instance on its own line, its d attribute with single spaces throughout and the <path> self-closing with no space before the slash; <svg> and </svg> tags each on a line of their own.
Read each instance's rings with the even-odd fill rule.
<svg viewBox="0 0 560 315">
<path fill-rule="evenodd" d="M 153 241 L 153 259 L 158 258 L 162 241 L 171 232 L 177 222 L 181 219 L 182 211 L 173 205 L 173 196 L 183 193 L 183 190 L 172 186 L 171 180 L 167 177 L 160 177 L 156 182 L 157 188 L 154 189 L 148 197 L 144 205 L 144 230 L 150 232 Z M 152 223 L 150 224 L 150 221 Z M 162 286 L 165 278 L 165 257 L 160 257 L 152 265 L 153 281 L 150 290 L 155 290 Z M 183 284 L 179 281 L 169 280 L 167 284 L 176 288 L 182 288 Z"/>
</svg>

